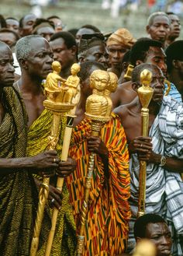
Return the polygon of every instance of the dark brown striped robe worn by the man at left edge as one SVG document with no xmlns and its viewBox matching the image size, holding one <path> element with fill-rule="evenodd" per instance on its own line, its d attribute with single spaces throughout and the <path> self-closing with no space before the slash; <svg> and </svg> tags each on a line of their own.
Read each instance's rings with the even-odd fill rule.
<svg viewBox="0 0 183 256">
<path fill-rule="evenodd" d="M 0 157 L 26 155 L 27 116 L 16 90 L 5 87 L 2 92 L 5 117 L 0 124 Z M 0 254 L 29 256 L 35 216 L 36 191 L 33 177 L 26 170 L 15 170 L 0 176 Z"/>
</svg>

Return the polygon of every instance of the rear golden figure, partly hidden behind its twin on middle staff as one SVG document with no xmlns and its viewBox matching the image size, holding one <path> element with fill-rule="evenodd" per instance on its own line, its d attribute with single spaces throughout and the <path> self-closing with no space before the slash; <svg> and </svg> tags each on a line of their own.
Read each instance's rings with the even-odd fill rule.
<svg viewBox="0 0 183 256">
<path fill-rule="evenodd" d="M 112 100 L 111 100 L 111 93 L 114 93 L 116 91 L 116 88 L 118 86 L 118 77 L 115 73 L 109 72 L 110 80 L 108 83 L 108 86 L 105 89 L 104 95 L 106 96 L 106 99 L 108 100 L 108 108 L 106 112 L 106 117 L 109 117 L 112 110 Z"/>
</svg>

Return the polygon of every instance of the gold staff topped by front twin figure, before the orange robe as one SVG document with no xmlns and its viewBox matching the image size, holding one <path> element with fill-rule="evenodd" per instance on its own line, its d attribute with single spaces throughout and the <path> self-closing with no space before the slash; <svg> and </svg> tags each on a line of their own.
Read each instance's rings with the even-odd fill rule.
<svg viewBox="0 0 183 256">
<path fill-rule="evenodd" d="M 90 86 L 93 89 L 93 94 L 88 96 L 86 101 L 85 115 L 91 120 L 91 136 L 98 137 L 102 128 L 102 124 L 110 120 L 112 104 L 109 104 L 109 93 L 105 96 L 105 90 L 109 86 L 110 76 L 108 72 L 102 70 L 95 70 L 90 76 Z M 109 110 L 110 109 L 110 110 Z M 83 253 L 85 243 L 85 222 L 88 209 L 88 198 L 91 189 L 91 179 L 93 177 L 93 170 L 95 164 L 95 153 L 91 153 L 88 163 L 88 174 L 85 179 L 85 193 L 84 202 L 81 209 L 81 228 L 78 235 L 77 255 L 81 256 Z"/>
</svg>

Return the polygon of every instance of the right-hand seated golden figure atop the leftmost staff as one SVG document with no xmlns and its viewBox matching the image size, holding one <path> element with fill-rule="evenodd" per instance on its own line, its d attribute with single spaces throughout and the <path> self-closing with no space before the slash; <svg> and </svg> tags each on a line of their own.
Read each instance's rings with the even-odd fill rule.
<svg viewBox="0 0 183 256">
<path fill-rule="evenodd" d="M 61 100 L 63 103 L 71 103 L 72 99 L 78 93 L 78 86 L 80 83 L 80 79 L 78 78 L 78 72 L 80 71 L 80 65 L 78 63 L 74 63 L 71 66 L 71 74 L 67 78 L 66 82 L 64 83 L 65 92 L 63 98 L 60 99 L 60 95 L 57 96 L 57 100 Z"/>
</svg>

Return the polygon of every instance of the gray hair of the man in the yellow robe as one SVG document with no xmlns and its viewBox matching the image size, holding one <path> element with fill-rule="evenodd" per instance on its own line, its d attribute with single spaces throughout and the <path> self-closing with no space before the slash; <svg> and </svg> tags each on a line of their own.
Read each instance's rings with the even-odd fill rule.
<svg viewBox="0 0 183 256">
<path fill-rule="evenodd" d="M 43 38 L 39 35 L 29 35 L 22 37 L 16 43 L 16 58 L 19 61 L 21 58 L 26 59 L 29 57 L 29 52 L 33 46 L 30 45 L 30 41 L 33 38 Z"/>
</svg>

